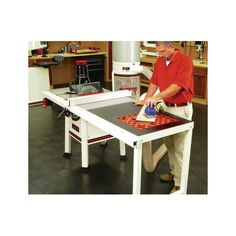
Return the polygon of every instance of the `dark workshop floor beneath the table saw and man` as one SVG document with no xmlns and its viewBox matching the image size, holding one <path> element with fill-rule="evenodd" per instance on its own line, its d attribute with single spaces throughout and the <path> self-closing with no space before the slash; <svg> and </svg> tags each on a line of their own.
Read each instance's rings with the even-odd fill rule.
<svg viewBox="0 0 236 236">
<path fill-rule="evenodd" d="M 90 165 L 81 169 L 81 147 L 72 139 L 72 157 L 65 159 L 64 119 L 59 107 L 29 107 L 29 193 L 30 194 L 131 194 L 133 150 L 126 146 L 127 161 L 120 161 L 119 142 L 106 147 L 89 146 Z M 194 130 L 188 181 L 188 194 L 207 194 L 207 106 L 194 104 Z M 153 142 L 155 150 L 161 141 Z M 153 173 L 142 169 L 143 194 L 167 194 L 172 184 L 159 180 L 167 172 L 163 157 Z"/>
</svg>

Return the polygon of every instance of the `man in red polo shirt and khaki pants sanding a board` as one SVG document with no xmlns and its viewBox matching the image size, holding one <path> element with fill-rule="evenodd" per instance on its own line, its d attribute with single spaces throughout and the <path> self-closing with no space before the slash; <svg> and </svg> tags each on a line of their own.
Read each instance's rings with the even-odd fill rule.
<svg viewBox="0 0 236 236">
<path fill-rule="evenodd" d="M 185 119 L 192 119 L 193 97 L 193 63 L 191 57 L 174 48 L 170 41 L 156 42 L 157 58 L 150 86 L 144 100 L 139 100 L 136 105 L 155 106 L 163 100 L 164 111 Z M 157 95 L 155 91 L 160 89 Z M 174 181 L 170 193 L 180 189 L 182 160 L 185 133 L 179 133 L 164 138 L 168 150 L 170 173 L 162 174 L 160 179 L 164 182 Z"/>
</svg>

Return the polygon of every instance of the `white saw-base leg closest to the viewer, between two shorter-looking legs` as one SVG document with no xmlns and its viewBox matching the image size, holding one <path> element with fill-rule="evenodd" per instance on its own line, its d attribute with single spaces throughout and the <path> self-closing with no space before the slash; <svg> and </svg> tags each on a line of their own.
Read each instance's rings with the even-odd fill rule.
<svg viewBox="0 0 236 236">
<path fill-rule="evenodd" d="M 80 120 L 80 134 L 81 134 L 82 168 L 87 168 L 89 165 L 88 126 L 87 126 L 87 121 L 83 119 Z"/>
</svg>

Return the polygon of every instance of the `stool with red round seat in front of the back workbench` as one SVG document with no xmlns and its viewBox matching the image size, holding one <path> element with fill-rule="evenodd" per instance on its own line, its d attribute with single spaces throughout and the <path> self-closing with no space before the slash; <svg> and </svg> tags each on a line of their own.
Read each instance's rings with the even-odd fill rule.
<svg viewBox="0 0 236 236">
<path fill-rule="evenodd" d="M 75 84 L 90 83 L 88 72 L 88 61 L 75 61 Z"/>
</svg>

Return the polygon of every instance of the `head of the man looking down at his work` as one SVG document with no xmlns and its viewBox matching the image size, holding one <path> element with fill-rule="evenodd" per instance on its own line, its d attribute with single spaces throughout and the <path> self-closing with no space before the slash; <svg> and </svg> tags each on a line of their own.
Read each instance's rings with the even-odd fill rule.
<svg viewBox="0 0 236 236">
<path fill-rule="evenodd" d="M 165 60 L 169 61 L 174 55 L 175 48 L 172 41 L 157 41 L 156 50 L 159 57 L 163 57 Z"/>
</svg>

